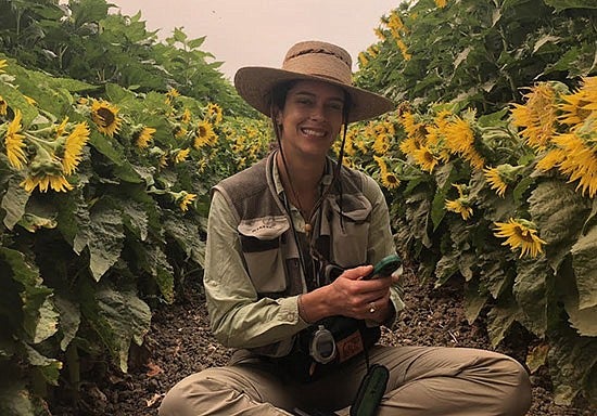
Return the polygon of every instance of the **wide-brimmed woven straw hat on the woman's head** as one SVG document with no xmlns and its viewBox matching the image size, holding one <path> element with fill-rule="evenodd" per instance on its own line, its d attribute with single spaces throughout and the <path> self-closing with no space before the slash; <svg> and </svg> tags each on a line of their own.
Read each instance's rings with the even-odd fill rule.
<svg viewBox="0 0 597 416">
<path fill-rule="evenodd" d="M 325 81 L 344 89 L 352 103 L 348 122 L 376 117 L 394 107 L 390 100 L 353 87 L 351 67 L 351 55 L 335 44 L 298 42 L 287 52 L 281 69 L 263 66 L 240 68 L 234 76 L 234 87 L 250 105 L 268 117 L 271 90 L 291 80 Z"/>
</svg>

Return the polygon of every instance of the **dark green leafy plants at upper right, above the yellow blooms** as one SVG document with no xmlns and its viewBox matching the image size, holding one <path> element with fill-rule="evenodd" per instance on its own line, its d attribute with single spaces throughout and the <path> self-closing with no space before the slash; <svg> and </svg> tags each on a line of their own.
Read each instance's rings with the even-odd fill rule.
<svg viewBox="0 0 597 416">
<path fill-rule="evenodd" d="M 596 31 L 590 0 L 403 2 L 363 53 L 357 82 L 423 112 L 454 100 L 488 114 L 537 80 L 596 74 Z"/>
</svg>

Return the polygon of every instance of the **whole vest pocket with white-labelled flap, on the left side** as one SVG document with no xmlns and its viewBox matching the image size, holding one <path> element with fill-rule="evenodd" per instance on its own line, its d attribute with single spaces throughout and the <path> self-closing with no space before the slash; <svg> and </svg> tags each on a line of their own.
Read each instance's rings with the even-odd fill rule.
<svg viewBox="0 0 597 416">
<path fill-rule="evenodd" d="M 258 294 L 287 289 L 281 245 L 289 229 L 285 217 L 242 221 L 238 226 L 245 268 Z"/>
</svg>

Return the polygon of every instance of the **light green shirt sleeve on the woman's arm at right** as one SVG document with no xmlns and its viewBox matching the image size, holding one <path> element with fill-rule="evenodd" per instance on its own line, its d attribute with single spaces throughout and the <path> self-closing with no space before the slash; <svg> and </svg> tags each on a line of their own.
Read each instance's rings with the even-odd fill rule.
<svg viewBox="0 0 597 416">
<path fill-rule="evenodd" d="M 370 177 L 365 176 L 363 193 L 371 202 L 371 224 L 369 226 L 369 242 L 367 258 L 371 264 L 377 263 L 385 256 L 396 253 L 394 236 L 390 226 L 390 212 L 385 197 L 379 184 Z M 405 308 L 401 298 L 401 286 L 396 283 L 390 288 L 390 300 L 394 307 L 394 313 L 384 322 L 384 326 L 393 328 L 396 324 L 398 312 Z"/>
</svg>

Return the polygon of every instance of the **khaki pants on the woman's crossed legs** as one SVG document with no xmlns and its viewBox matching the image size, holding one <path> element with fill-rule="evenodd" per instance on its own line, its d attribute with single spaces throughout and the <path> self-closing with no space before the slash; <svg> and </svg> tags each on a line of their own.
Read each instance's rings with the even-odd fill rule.
<svg viewBox="0 0 597 416">
<path fill-rule="evenodd" d="M 369 356 L 390 369 L 379 416 L 517 416 L 531 406 L 526 372 L 503 354 L 376 346 Z M 294 407 L 347 415 L 365 373 L 365 360 L 356 359 L 334 374 L 298 384 L 270 362 L 240 360 L 178 382 L 164 398 L 160 416 L 274 416 L 292 414 Z"/>
</svg>

